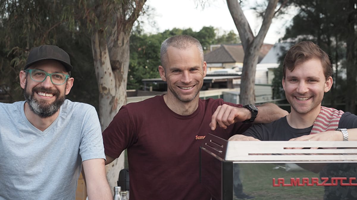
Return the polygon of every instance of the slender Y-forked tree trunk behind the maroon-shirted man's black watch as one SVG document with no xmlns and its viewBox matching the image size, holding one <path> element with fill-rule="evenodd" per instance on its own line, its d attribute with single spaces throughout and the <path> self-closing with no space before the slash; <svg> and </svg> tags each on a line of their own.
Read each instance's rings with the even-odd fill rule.
<svg viewBox="0 0 357 200">
<path fill-rule="evenodd" d="M 237 0 L 227 0 L 228 9 L 236 25 L 244 49 L 244 60 L 240 86 L 240 104 L 245 105 L 255 103 L 254 83 L 255 71 L 258 62 L 258 53 L 271 25 L 272 18 L 275 15 L 275 8 L 277 3 L 278 0 L 269 0 L 263 17 L 262 26 L 260 27 L 258 35 L 254 37 L 239 2 Z"/>
</svg>

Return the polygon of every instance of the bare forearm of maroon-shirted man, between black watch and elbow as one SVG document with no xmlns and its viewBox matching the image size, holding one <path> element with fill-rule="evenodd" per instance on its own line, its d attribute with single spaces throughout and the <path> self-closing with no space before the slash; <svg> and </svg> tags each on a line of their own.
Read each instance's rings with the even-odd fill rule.
<svg viewBox="0 0 357 200">
<path fill-rule="evenodd" d="M 269 123 L 280 119 L 281 117 L 289 114 L 286 110 L 281 109 L 279 106 L 266 103 L 258 106 L 258 115 L 254 123 Z"/>
</svg>

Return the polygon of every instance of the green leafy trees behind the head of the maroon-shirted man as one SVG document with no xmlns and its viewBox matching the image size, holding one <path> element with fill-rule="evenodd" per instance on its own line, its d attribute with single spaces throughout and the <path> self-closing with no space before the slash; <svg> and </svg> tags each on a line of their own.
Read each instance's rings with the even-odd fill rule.
<svg viewBox="0 0 357 200">
<path fill-rule="evenodd" d="M 217 29 L 212 26 L 203 27 L 195 32 L 191 28 L 173 28 L 157 34 L 147 34 L 143 30 L 132 31 L 130 37 L 130 64 L 128 72 L 128 89 L 143 89 L 142 79 L 160 78 L 158 66 L 160 61 L 161 43 L 174 35 L 189 35 L 201 42 L 203 49 L 210 49 L 211 44 L 238 43 L 238 36 L 230 31 L 217 36 Z M 155 85 L 153 85 L 155 88 Z"/>
</svg>

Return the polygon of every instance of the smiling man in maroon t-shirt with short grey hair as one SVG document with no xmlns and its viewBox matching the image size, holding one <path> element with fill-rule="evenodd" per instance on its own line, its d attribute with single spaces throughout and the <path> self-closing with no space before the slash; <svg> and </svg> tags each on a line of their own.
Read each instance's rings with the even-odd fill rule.
<svg viewBox="0 0 357 200">
<path fill-rule="evenodd" d="M 253 105 L 201 100 L 207 65 L 193 37 L 168 38 L 160 54 L 167 94 L 121 107 L 103 132 L 106 164 L 127 149 L 131 200 L 210 200 L 198 177 L 199 147 L 206 134 L 228 139 L 250 126 L 243 121 L 267 123 L 287 112 L 274 104 L 260 106 L 258 113 Z"/>
</svg>

